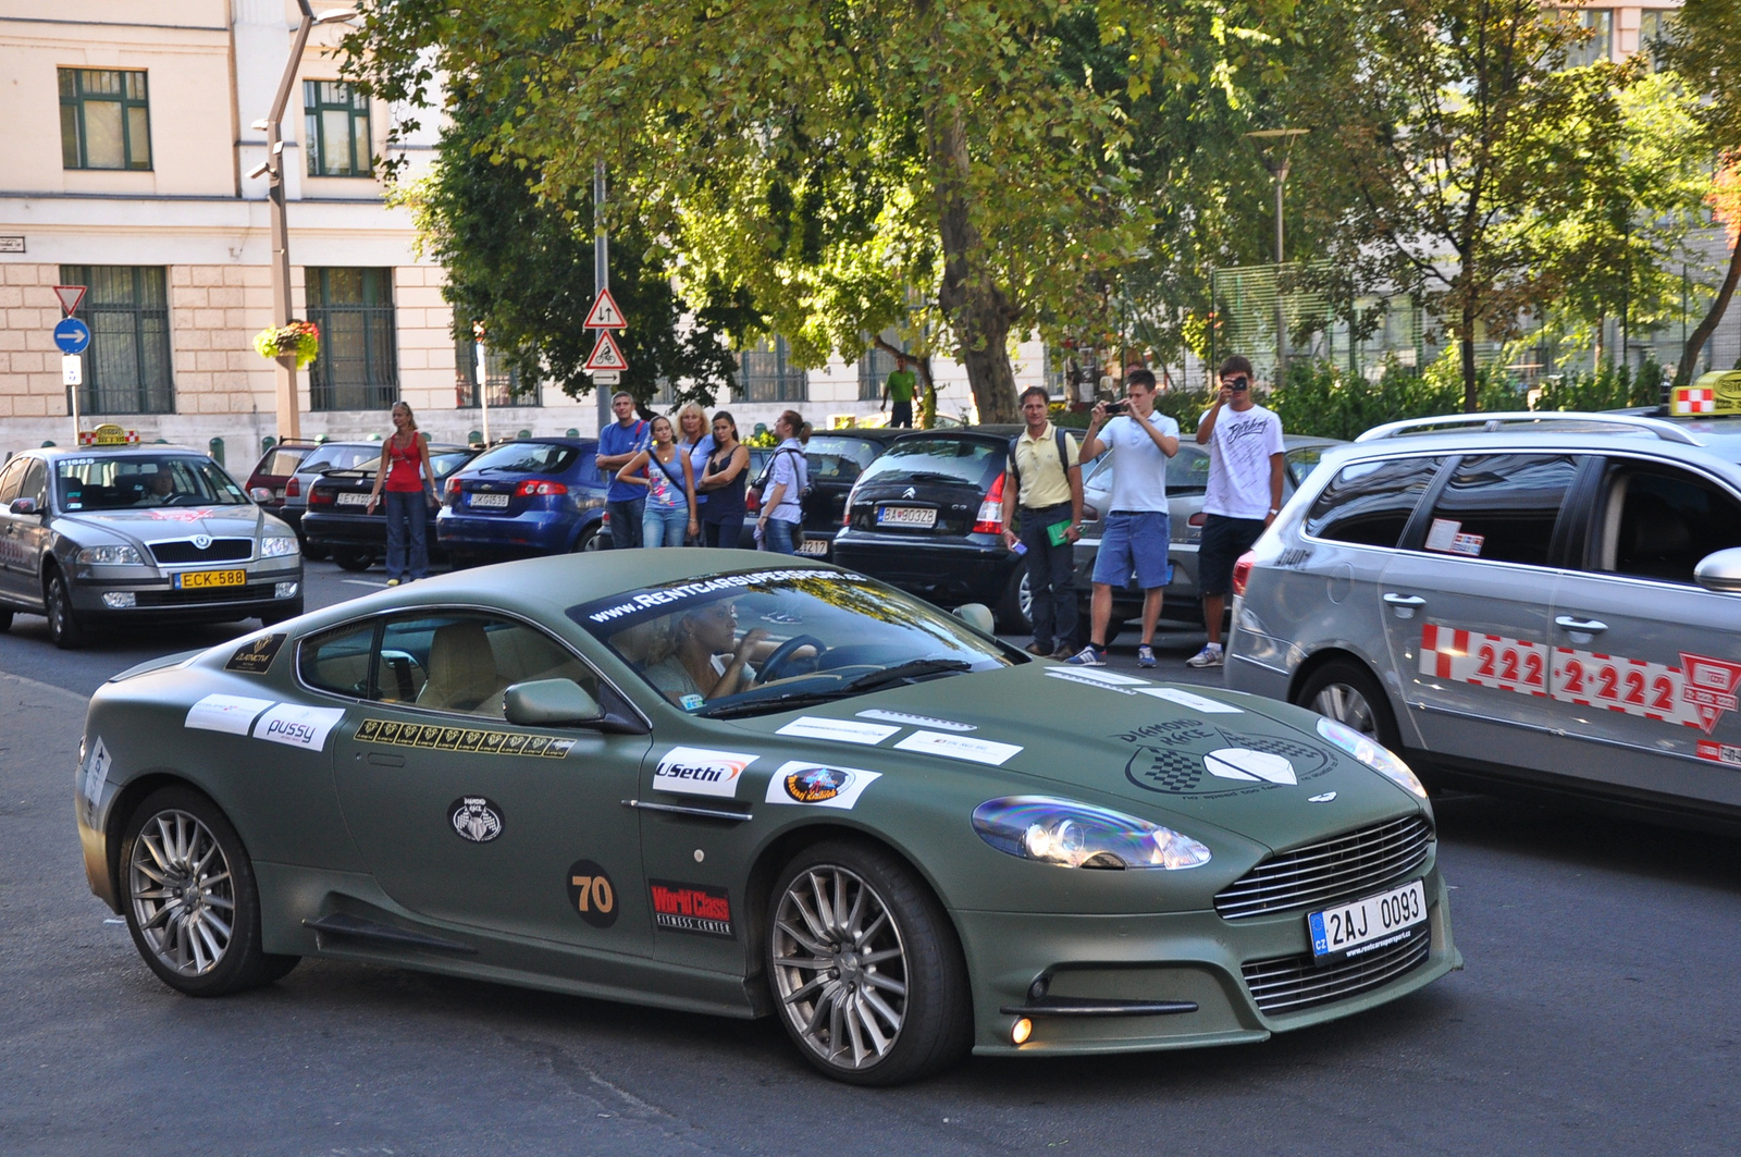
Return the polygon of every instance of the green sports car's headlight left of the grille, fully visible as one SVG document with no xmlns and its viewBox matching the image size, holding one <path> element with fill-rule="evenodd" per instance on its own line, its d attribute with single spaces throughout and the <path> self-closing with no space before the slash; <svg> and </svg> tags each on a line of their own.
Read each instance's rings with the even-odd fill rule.
<svg viewBox="0 0 1741 1157">
<path fill-rule="evenodd" d="M 973 831 L 999 852 L 1060 868 L 1200 868 L 1208 849 L 1172 828 L 1074 800 L 1003 796 L 973 809 Z"/>
</svg>

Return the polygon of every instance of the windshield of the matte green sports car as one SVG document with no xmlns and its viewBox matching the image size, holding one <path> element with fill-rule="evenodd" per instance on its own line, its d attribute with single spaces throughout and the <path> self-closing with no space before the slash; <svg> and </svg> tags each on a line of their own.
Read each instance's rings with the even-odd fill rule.
<svg viewBox="0 0 1741 1157">
<path fill-rule="evenodd" d="M 768 714 L 1025 657 L 864 575 L 752 570 L 573 606 L 569 619 L 684 711 Z"/>
</svg>

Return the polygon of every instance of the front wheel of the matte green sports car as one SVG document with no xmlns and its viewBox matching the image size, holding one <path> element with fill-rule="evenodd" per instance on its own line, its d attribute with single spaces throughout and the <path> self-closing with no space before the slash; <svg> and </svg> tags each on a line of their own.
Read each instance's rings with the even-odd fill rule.
<svg viewBox="0 0 1741 1157">
<path fill-rule="evenodd" d="M 825 842 L 792 859 L 768 903 L 764 951 L 780 1023 L 836 1080 L 918 1080 L 971 1044 L 954 927 L 912 869 L 881 849 Z"/>
</svg>

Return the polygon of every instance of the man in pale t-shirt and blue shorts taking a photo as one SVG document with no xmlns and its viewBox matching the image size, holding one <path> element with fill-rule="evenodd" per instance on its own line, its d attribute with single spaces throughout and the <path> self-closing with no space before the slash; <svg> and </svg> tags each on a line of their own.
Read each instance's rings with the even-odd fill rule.
<svg viewBox="0 0 1741 1157">
<path fill-rule="evenodd" d="M 1116 413 L 1111 422 L 1107 416 Z M 1106 430 L 1102 432 L 1102 423 Z M 1142 587 L 1142 645 L 1137 666 L 1154 666 L 1154 622 L 1161 617 L 1161 587 L 1166 585 L 1166 460 L 1179 453 L 1179 423 L 1154 413 L 1154 375 L 1133 369 L 1125 375 L 1123 403 L 1097 403 L 1083 439 L 1083 460 L 1114 450 L 1112 509 L 1100 530 L 1093 559 L 1092 634 L 1071 662 L 1106 666 L 1106 627 L 1112 620 L 1112 587 L 1125 585 L 1132 572 Z"/>
</svg>

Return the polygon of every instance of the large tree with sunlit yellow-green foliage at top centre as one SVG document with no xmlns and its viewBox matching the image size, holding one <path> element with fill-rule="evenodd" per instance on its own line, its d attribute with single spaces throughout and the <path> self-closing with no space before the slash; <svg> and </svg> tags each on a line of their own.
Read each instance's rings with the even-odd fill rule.
<svg viewBox="0 0 1741 1157">
<path fill-rule="evenodd" d="M 1140 96 L 1184 78 L 1177 45 L 1290 7 L 399 0 L 348 49 L 387 99 L 440 70 L 512 101 L 493 148 L 552 200 L 609 160 L 613 218 L 658 240 L 689 301 L 747 293 L 810 364 L 888 326 L 930 333 L 980 416 L 1008 420 L 1012 336 L 1102 312 L 1093 286 L 1149 233 L 1112 85 L 1067 64 L 1060 23 L 1090 12 L 1126 63 L 1112 82 Z"/>
</svg>

